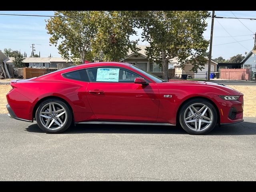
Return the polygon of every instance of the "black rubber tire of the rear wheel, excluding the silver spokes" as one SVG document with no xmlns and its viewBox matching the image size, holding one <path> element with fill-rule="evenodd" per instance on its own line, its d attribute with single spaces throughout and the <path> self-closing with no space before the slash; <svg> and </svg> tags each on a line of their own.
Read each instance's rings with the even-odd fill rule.
<svg viewBox="0 0 256 192">
<path fill-rule="evenodd" d="M 45 125 L 43 123 L 46 124 L 46 118 L 41 118 L 40 119 L 40 111 L 42 110 L 42 108 L 47 108 L 47 104 L 50 104 L 50 103 L 54 103 L 54 108 L 56 108 L 56 110 L 58 109 L 58 106 L 61 106 L 64 110 L 65 110 L 65 113 L 64 113 L 64 117 L 65 119 L 62 119 L 64 122 L 62 126 L 58 126 L 55 122 L 52 123 L 52 128 L 46 128 Z M 59 108 L 60 109 L 60 108 Z M 48 113 L 46 111 L 46 113 Z M 61 112 L 59 112 L 60 114 Z M 51 116 L 50 114 L 45 114 L 45 116 Z M 55 114 L 53 114 L 53 116 L 55 116 Z M 58 118 L 57 116 L 55 117 L 55 119 Z M 59 118 L 63 118 L 63 117 L 59 117 Z M 54 120 L 54 118 L 51 118 L 49 119 L 50 122 L 52 121 L 52 119 Z M 58 119 L 56 119 L 58 120 Z M 42 121 L 42 122 L 41 122 Z M 61 132 L 64 132 L 65 130 L 67 130 L 71 123 L 72 123 L 72 109 L 70 108 L 70 106 L 68 106 L 65 102 L 63 102 L 62 100 L 60 99 L 57 99 L 57 98 L 52 98 L 52 99 L 47 99 L 47 100 L 44 100 L 42 103 L 40 103 L 40 105 L 38 106 L 37 110 L 36 110 L 36 122 L 39 126 L 39 128 L 41 130 L 43 130 L 44 132 L 46 133 L 61 133 Z M 60 124 L 60 121 L 58 121 L 58 123 Z M 50 125 L 50 123 L 48 124 Z M 56 128 L 54 128 L 54 126 Z M 59 128 L 58 128 L 59 127 Z"/>
</svg>

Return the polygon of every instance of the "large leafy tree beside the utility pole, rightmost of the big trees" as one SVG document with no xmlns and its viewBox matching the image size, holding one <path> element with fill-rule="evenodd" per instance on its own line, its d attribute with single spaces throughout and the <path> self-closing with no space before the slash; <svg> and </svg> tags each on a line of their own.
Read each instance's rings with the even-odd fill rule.
<svg viewBox="0 0 256 192">
<path fill-rule="evenodd" d="M 146 55 L 163 66 L 164 78 L 168 78 L 168 60 L 178 56 L 184 68 L 191 57 L 192 71 L 202 70 L 209 41 L 203 37 L 208 11 L 144 11 L 141 19 L 142 37 L 150 43 Z M 155 19 L 156 18 L 156 19 Z"/>
</svg>

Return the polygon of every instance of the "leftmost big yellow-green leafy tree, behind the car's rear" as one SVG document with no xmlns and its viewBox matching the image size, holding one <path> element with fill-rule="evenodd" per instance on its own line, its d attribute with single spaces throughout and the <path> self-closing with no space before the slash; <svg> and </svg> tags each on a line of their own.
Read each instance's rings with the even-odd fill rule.
<svg viewBox="0 0 256 192">
<path fill-rule="evenodd" d="M 46 20 L 46 29 L 50 43 L 58 47 L 59 53 L 65 59 L 92 61 L 92 41 L 95 38 L 95 21 L 90 19 L 93 11 L 55 11 L 55 16 L 82 16 L 53 17 Z"/>
</svg>

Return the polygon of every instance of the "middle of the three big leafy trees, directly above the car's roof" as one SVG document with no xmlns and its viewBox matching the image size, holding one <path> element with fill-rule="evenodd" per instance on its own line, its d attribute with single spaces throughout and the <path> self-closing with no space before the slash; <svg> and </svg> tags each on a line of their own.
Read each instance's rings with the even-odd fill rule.
<svg viewBox="0 0 256 192">
<path fill-rule="evenodd" d="M 127 19 L 130 11 L 94 11 L 92 16 L 97 28 L 92 41 L 93 56 L 103 53 L 103 61 L 120 61 L 129 50 L 138 52 L 138 40 L 130 40 L 130 36 L 136 35 L 134 20 Z"/>
</svg>

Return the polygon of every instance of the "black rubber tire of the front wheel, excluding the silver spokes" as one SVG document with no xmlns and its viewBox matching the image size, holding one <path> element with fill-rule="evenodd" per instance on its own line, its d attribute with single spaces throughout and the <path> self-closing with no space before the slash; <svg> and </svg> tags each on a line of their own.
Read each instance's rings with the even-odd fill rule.
<svg viewBox="0 0 256 192">
<path fill-rule="evenodd" d="M 189 106 L 191 106 L 193 104 L 195 106 L 200 106 L 200 104 L 203 104 L 206 107 L 208 107 L 208 110 L 206 110 L 206 116 L 208 114 L 208 116 L 211 117 L 211 119 L 212 119 L 211 121 L 207 120 L 207 121 L 211 122 L 211 124 L 210 123 L 200 122 L 201 125 L 204 125 L 204 127 L 205 127 L 202 130 L 200 130 L 200 131 L 196 131 L 196 126 L 197 126 L 197 128 L 199 127 L 198 126 L 199 125 L 198 122 L 196 122 L 197 124 L 195 122 L 190 122 L 190 123 L 187 122 L 187 123 L 185 123 L 185 120 L 184 120 L 184 118 L 190 116 L 190 114 L 191 114 L 191 116 L 193 116 L 192 112 L 189 110 Z M 200 107 L 198 107 L 198 109 L 200 109 Z M 202 111 L 204 111 L 204 110 L 202 110 Z M 186 116 L 186 115 L 184 115 L 185 112 L 186 112 L 186 114 L 187 113 L 190 113 L 190 114 L 188 116 Z M 194 110 L 193 110 L 193 112 L 194 112 Z M 197 113 L 194 113 L 194 114 L 197 114 Z M 201 115 L 201 113 L 200 113 L 200 115 Z M 200 119 L 205 120 L 203 116 L 199 116 L 199 117 L 198 116 L 199 116 L 199 114 L 194 115 L 194 117 L 188 119 L 188 121 L 192 121 L 192 120 L 199 121 Z M 180 123 L 180 126 L 186 132 L 188 132 L 189 134 L 192 134 L 192 135 L 202 135 L 202 134 L 207 134 L 210 131 L 212 131 L 214 129 L 214 127 L 216 126 L 217 118 L 218 118 L 218 115 L 217 115 L 215 107 L 209 101 L 207 101 L 205 99 L 201 99 L 201 98 L 195 98 L 195 99 L 189 100 L 188 102 L 185 102 L 182 105 L 182 107 L 180 108 L 180 112 L 179 112 L 179 123 Z M 193 124 L 194 124 L 194 127 L 193 127 Z M 195 130 L 193 130 L 192 128 L 195 128 Z"/>
</svg>

